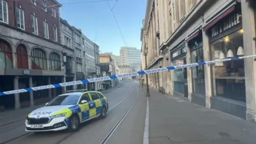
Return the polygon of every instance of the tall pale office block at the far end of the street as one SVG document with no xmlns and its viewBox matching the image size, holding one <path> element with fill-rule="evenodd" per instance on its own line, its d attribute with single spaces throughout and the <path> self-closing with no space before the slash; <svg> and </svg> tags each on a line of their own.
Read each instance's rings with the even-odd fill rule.
<svg viewBox="0 0 256 144">
<path fill-rule="evenodd" d="M 132 70 L 138 70 L 141 63 L 141 52 L 136 47 L 121 47 L 121 65 L 129 65 Z"/>
</svg>

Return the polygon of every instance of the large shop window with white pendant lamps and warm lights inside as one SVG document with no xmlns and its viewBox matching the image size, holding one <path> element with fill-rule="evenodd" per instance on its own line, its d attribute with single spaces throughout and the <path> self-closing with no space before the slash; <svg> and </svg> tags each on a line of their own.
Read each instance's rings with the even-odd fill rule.
<svg viewBox="0 0 256 144">
<path fill-rule="evenodd" d="M 211 44 L 212 59 L 239 57 L 244 54 L 243 29 Z M 219 62 L 212 65 L 213 94 L 245 102 L 244 60 Z"/>
</svg>

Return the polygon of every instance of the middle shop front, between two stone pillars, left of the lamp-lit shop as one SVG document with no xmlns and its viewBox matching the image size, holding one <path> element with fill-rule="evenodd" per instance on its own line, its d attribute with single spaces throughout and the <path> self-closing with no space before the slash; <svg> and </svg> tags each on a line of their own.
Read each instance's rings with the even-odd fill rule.
<svg viewBox="0 0 256 144">
<path fill-rule="evenodd" d="M 202 30 L 187 39 L 190 50 L 190 63 L 204 62 Z M 205 77 L 204 65 L 191 67 L 192 92 L 191 101 L 205 106 Z"/>
</svg>

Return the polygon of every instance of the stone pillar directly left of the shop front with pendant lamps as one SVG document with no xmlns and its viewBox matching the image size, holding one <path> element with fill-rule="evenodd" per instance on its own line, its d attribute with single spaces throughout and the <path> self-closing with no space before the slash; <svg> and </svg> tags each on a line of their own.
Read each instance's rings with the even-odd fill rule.
<svg viewBox="0 0 256 144">
<path fill-rule="evenodd" d="M 202 31 L 203 35 L 203 53 L 204 61 L 210 61 L 210 47 L 209 37 L 206 31 Z M 205 106 L 211 108 L 211 97 L 212 97 L 212 79 L 211 79 L 211 65 L 204 65 L 204 79 L 205 79 Z"/>
</svg>

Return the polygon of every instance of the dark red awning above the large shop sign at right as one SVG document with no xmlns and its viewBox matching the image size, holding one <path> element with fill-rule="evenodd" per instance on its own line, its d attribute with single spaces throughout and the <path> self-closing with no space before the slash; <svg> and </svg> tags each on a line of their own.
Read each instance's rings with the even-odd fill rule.
<svg viewBox="0 0 256 144">
<path fill-rule="evenodd" d="M 205 25 L 203 25 L 203 30 L 205 31 L 205 30 L 211 28 L 219 20 L 221 20 L 222 18 L 226 17 L 229 13 L 235 11 L 235 4 L 236 4 L 236 2 L 231 4 L 231 5 L 229 5 L 225 10 L 223 10 L 221 13 L 216 15 L 216 17 L 214 17 L 209 22 L 205 23 Z"/>
</svg>

